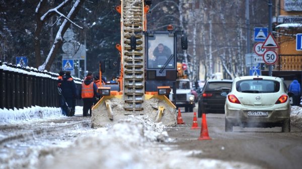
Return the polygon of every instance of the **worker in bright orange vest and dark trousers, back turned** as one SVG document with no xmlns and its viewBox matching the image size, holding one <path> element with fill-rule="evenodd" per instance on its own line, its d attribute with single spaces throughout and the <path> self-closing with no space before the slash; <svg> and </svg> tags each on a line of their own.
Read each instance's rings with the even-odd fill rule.
<svg viewBox="0 0 302 169">
<path fill-rule="evenodd" d="M 88 110 L 90 110 L 90 116 L 92 113 L 92 105 L 96 100 L 97 96 L 97 85 L 92 81 L 91 76 L 86 76 L 85 81 L 81 86 L 81 97 L 83 99 L 83 116 L 88 115 Z"/>
</svg>

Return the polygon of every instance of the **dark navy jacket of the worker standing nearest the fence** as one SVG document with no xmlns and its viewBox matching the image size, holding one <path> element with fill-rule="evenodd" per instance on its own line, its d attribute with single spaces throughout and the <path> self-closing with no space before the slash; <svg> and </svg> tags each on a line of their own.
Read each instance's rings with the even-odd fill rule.
<svg viewBox="0 0 302 169">
<path fill-rule="evenodd" d="M 64 75 L 61 83 L 62 94 L 65 99 L 77 98 L 77 89 L 71 76 Z"/>
</svg>

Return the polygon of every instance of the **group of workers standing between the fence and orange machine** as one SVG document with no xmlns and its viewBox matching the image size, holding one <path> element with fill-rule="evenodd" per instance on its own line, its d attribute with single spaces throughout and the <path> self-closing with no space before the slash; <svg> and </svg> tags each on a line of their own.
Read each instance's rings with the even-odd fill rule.
<svg viewBox="0 0 302 169">
<path fill-rule="evenodd" d="M 106 83 L 105 78 L 102 78 L 101 80 L 103 83 Z M 66 116 L 73 116 L 75 112 L 75 100 L 83 99 L 83 116 L 91 116 L 92 106 L 96 104 L 101 97 L 97 92 L 97 89 L 100 86 L 100 77 L 94 77 L 92 72 L 88 72 L 80 89 L 77 90 L 77 87 L 70 75 L 70 71 L 59 72 L 58 88 L 61 91 L 61 94 L 59 95 L 59 104 L 62 109 L 62 113 Z"/>
</svg>

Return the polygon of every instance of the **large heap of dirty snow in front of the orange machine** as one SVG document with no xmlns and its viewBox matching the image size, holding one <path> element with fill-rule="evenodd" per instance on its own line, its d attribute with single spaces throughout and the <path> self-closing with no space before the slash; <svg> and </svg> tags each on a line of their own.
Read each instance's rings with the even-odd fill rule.
<svg viewBox="0 0 302 169">
<path fill-rule="evenodd" d="M 130 116 L 108 128 L 95 129 L 66 149 L 43 150 L 37 168 L 259 168 L 241 162 L 193 158 L 202 153 L 167 151 L 157 141 L 169 141 L 165 126 L 147 116 Z"/>
</svg>

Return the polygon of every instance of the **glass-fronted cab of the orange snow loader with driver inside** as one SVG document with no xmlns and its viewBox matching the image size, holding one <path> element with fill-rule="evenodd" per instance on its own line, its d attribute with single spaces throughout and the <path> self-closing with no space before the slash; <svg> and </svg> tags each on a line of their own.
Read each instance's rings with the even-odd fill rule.
<svg viewBox="0 0 302 169">
<path fill-rule="evenodd" d="M 158 86 L 173 86 L 177 79 L 176 44 L 176 32 L 145 33 L 146 91 L 157 91 Z"/>
</svg>

